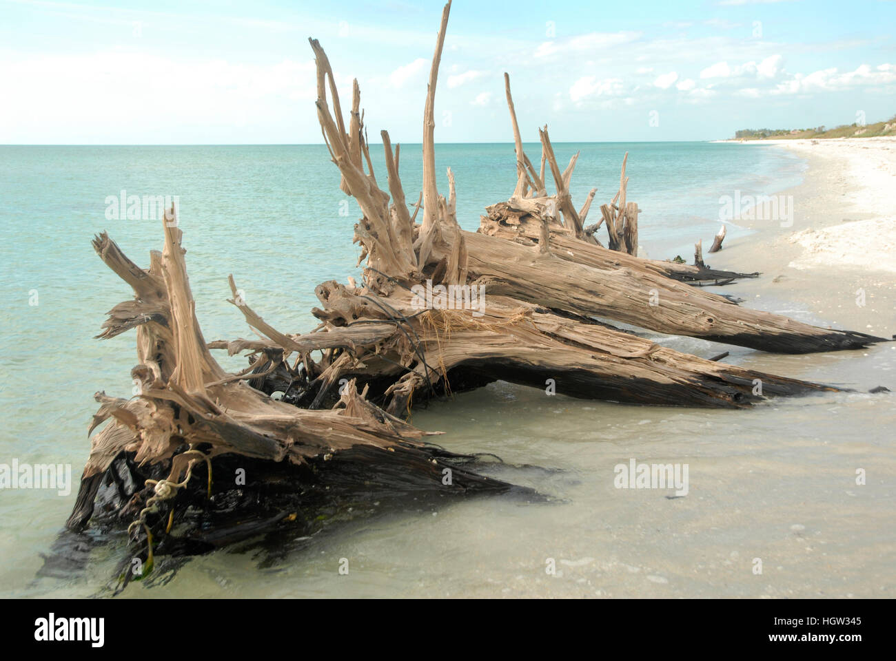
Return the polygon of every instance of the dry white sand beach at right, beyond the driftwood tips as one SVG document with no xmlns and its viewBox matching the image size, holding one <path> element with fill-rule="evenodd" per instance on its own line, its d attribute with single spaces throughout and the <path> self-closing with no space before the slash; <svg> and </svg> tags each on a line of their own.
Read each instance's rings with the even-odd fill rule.
<svg viewBox="0 0 896 661">
<path fill-rule="evenodd" d="M 806 159 L 792 196 L 792 227 L 738 221 L 754 235 L 706 255 L 713 267 L 760 270 L 757 293 L 806 305 L 831 326 L 896 332 L 896 138 L 763 140 L 744 149 L 785 149 Z M 707 240 L 704 239 L 704 245 Z M 864 292 L 864 304 L 863 302 Z M 750 305 L 762 306 L 761 302 Z"/>
</svg>

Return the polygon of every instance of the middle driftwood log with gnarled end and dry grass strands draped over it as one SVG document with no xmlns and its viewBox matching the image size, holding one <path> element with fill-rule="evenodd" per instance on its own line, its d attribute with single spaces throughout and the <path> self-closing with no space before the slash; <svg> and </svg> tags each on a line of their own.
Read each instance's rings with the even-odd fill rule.
<svg viewBox="0 0 896 661">
<path fill-rule="evenodd" d="M 428 397 L 434 387 L 438 392 L 460 390 L 455 380 L 478 384 L 503 379 L 538 388 L 549 385 L 582 399 L 712 408 L 745 407 L 763 396 L 834 390 L 689 356 L 505 296 L 478 301 L 473 292 L 476 309 L 444 309 L 441 305 L 452 305 L 453 296 L 470 292 L 423 292 L 396 288 L 389 296 L 378 296 L 336 282 L 319 286 L 323 309 L 315 308 L 314 314 L 324 325 L 311 334 L 320 339 L 308 347 L 328 348 L 329 339 L 329 348 L 344 348 L 349 337 L 358 338 L 359 326 L 379 323 L 389 331 L 366 346 L 352 341 L 313 385 L 328 391 L 340 380 L 357 379 L 370 385 L 371 396 L 382 397 L 394 414 L 406 410 L 415 391 Z M 427 296 L 440 306 L 427 307 Z M 481 310 L 479 303 L 484 304 Z M 279 346 L 282 340 L 273 339 L 282 337 L 279 333 L 257 323 L 258 315 L 245 305 L 241 310 L 256 331 Z"/>
</svg>

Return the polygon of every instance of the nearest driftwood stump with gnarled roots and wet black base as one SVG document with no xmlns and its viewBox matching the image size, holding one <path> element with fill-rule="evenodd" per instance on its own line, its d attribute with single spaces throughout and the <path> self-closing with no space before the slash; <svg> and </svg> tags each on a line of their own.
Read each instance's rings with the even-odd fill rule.
<svg viewBox="0 0 896 661">
<path fill-rule="evenodd" d="M 142 559 L 142 576 L 151 569 L 153 549 L 199 553 L 270 532 L 295 522 L 300 505 L 298 521 L 307 525 L 305 496 L 327 482 L 323 475 L 341 475 L 343 484 L 354 481 L 368 492 L 383 483 L 381 491 L 388 485 L 393 494 L 511 488 L 466 468 L 469 456 L 426 442 L 436 433 L 377 408 L 366 400 L 367 387 L 359 393 L 354 380 L 344 382 L 326 410 L 297 408 L 252 387 L 249 382 L 261 385 L 291 373 L 288 358 L 295 348 L 289 342 L 287 348 L 256 346 L 249 369 L 226 373 L 196 321 L 180 242 L 176 223 L 167 223 L 163 252 L 152 253 L 149 270 L 143 270 L 107 235 L 94 239 L 103 261 L 134 289 L 134 300 L 110 311 L 98 337 L 136 329 L 137 394 L 119 399 L 97 393 L 100 406 L 89 433 L 107 424 L 92 438 L 69 528 L 84 528 L 98 502 L 99 519 L 133 519 L 129 532 L 142 548 L 134 555 Z M 354 337 L 369 342 L 379 336 Z M 301 354 L 307 360 L 314 342 L 296 344 L 308 349 Z M 358 478 L 362 472 L 364 480 Z M 329 495 L 332 507 L 336 492 Z M 240 516 L 242 524 L 234 528 Z M 134 574 L 124 571 L 123 577 Z"/>
</svg>

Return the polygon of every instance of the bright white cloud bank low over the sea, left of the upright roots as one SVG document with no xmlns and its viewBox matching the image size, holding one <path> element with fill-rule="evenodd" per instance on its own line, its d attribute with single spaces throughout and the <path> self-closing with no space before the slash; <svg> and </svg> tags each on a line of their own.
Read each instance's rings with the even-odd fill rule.
<svg viewBox="0 0 896 661">
<path fill-rule="evenodd" d="M 316 98 L 310 61 L 234 64 L 123 50 L 0 59 L 0 89 L 7 101 L 15 99 L 0 104 L 0 142 L 17 142 L 20 134 L 30 140 L 97 142 L 105 135 L 109 142 L 152 142 L 173 131 L 282 121 L 295 113 L 295 101 L 305 105 Z M 350 89 L 348 94 L 350 99 Z"/>
</svg>

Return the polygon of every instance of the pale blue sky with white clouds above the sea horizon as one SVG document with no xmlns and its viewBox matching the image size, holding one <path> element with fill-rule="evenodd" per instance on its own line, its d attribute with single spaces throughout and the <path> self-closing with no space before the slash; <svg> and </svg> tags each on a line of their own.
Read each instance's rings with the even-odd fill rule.
<svg viewBox="0 0 896 661">
<path fill-rule="evenodd" d="M 442 2 L 0 0 L 0 144 L 322 142 L 319 39 L 371 142 L 420 142 Z M 436 142 L 679 141 L 896 115 L 896 2 L 456 0 Z"/>
</svg>

